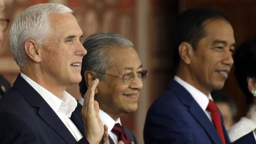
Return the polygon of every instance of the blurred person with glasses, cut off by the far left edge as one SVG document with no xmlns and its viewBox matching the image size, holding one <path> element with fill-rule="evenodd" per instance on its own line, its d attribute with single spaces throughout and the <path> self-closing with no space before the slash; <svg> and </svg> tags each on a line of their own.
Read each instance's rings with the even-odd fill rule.
<svg viewBox="0 0 256 144">
<path fill-rule="evenodd" d="M 4 10 L 7 4 L 10 4 L 13 0 L 0 0 L 0 13 Z M 9 19 L 0 18 L 0 48 L 2 47 L 2 41 L 4 38 L 4 32 L 9 24 Z M 11 88 L 9 81 L 0 74 L 0 98 Z"/>
</svg>

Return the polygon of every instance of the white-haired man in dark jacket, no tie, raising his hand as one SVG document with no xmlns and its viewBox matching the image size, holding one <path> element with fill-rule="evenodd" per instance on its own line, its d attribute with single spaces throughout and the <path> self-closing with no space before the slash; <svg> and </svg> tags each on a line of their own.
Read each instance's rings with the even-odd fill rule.
<svg viewBox="0 0 256 144">
<path fill-rule="evenodd" d="M 87 53 L 72 10 L 61 4 L 37 4 L 13 22 L 10 44 L 20 66 L 13 87 L 0 99 L 1 144 L 98 144 L 104 127 L 91 83 L 82 108 L 65 89 L 81 81 Z M 83 126 L 84 124 L 84 126 Z"/>
</svg>

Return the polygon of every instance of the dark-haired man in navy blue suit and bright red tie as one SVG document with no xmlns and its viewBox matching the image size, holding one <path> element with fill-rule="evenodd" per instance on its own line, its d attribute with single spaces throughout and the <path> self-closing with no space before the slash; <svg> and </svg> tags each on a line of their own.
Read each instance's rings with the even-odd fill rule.
<svg viewBox="0 0 256 144">
<path fill-rule="evenodd" d="M 176 76 L 148 109 L 145 144 L 228 144 L 210 92 L 221 89 L 233 65 L 234 31 L 213 9 L 182 13 L 173 31 Z M 236 143 L 254 144 L 255 131 Z"/>
</svg>

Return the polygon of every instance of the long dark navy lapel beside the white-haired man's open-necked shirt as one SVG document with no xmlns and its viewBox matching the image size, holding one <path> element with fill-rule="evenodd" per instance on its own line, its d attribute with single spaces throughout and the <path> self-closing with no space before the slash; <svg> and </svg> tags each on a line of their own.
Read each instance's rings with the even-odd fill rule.
<svg viewBox="0 0 256 144">
<path fill-rule="evenodd" d="M 21 76 L 18 75 L 13 88 L 24 96 L 28 103 L 33 107 L 38 107 L 39 116 L 61 137 L 67 144 L 73 144 L 76 139 L 63 124 L 58 115 L 52 110 L 50 105 L 40 96 L 40 94 L 31 87 Z"/>
</svg>

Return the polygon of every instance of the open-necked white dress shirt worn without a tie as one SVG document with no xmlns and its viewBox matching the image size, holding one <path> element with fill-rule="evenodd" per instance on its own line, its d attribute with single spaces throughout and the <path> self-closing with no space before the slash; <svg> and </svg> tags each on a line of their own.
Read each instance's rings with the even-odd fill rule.
<svg viewBox="0 0 256 144">
<path fill-rule="evenodd" d="M 43 97 L 48 105 L 50 105 L 52 110 L 59 116 L 74 138 L 77 141 L 80 140 L 83 136 L 74 123 L 70 120 L 71 114 L 77 106 L 75 98 L 66 91 L 64 91 L 63 94 L 61 94 L 61 96 L 58 98 L 23 73 L 21 73 L 20 76 L 22 76 L 22 78 L 24 78 L 33 87 L 33 89 L 35 89 Z"/>
</svg>

